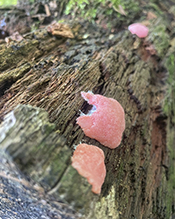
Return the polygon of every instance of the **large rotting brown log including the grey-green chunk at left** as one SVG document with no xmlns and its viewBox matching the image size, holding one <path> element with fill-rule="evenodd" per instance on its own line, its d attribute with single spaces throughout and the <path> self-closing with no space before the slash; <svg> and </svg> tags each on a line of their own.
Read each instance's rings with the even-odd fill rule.
<svg viewBox="0 0 175 219">
<path fill-rule="evenodd" d="M 156 14 L 146 39 L 122 29 L 109 40 L 101 28 L 72 23 L 74 39 L 44 28 L 0 45 L 1 150 L 81 218 L 174 217 L 174 14 L 167 11 L 170 2 L 154 5 L 167 16 Z M 88 90 L 125 110 L 123 141 L 114 150 L 76 124 L 80 110 L 90 109 L 80 95 Z M 100 196 L 71 167 L 80 142 L 105 153 Z"/>
</svg>

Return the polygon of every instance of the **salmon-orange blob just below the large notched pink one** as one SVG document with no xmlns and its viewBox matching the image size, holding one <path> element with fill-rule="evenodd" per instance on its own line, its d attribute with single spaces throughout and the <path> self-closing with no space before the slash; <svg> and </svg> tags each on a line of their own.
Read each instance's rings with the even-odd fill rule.
<svg viewBox="0 0 175 219">
<path fill-rule="evenodd" d="M 72 156 L 72 166 L 92 185 L 92 192 L 100 194 L 106 176 L 103 151 L 88 144 L 79 144 Z"/>
</svg>

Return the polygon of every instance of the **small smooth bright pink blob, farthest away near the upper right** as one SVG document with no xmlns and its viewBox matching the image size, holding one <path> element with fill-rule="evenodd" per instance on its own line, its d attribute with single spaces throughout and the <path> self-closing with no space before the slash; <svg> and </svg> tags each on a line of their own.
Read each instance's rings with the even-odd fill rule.
<svg viewBox="0 0 175 219">
<path fill-rule="evenodd" d="M 136 34 L 139 38 L 145 38 L 148 35 L 149 29 L 143 24 L 135 23 L 128 27 L 132 34 Z"/>
</svg>

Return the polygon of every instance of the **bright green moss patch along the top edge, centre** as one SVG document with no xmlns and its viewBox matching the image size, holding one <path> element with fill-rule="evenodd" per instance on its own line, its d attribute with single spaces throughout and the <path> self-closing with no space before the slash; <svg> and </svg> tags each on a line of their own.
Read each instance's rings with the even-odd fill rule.
<svg viewBox="0 0 175 219">
<path fill-rule="evenodd" d="M 126 13 L 126 16 L 122 15 L 119 6 L 122 7 Z M 77 10 L 78 9 L 78 10 Z M 94 22 L 96 17 L 113 16 L 118 17 L 120 20 L 131 20 L 140 11 L 140 6 L 137 1 L 134 0 L 70 0 L 67 4 L 65 14 L 73 16 L 81 16 L 84 19 Z M 110 21 L 110 19 L 109 19 Z"/>
</svg>

